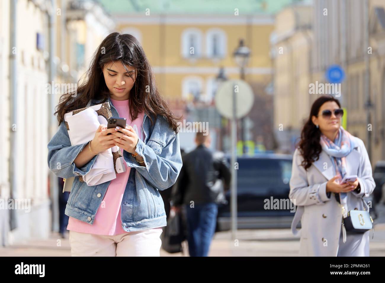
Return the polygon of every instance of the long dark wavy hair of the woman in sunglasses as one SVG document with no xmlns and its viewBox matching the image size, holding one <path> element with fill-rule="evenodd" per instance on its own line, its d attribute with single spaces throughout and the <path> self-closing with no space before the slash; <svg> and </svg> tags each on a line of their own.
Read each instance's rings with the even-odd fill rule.
<svg viewBox="0 0 385 283">
<path fill-rule="evenodd" d="M 315 124 L 313 124 L 311 117 L 317 116 L 322 104 L 328 101 L 334 101 L 338 104 L 338 107 L 341 107 L 340 101 L 333 96 L 323 95 L 318 97 L 318 99 L 313 102 L 313 105 L 311 105 L 309 119 L 302 128 L 301 139 L 298 142 L 297 147 L 303 156 L 301 165 L 306 170 L 311 166 L 311 163 L 320 158 L 320 153 L 322 151 L 320 144 L 321 131 Z"/>
</svg>

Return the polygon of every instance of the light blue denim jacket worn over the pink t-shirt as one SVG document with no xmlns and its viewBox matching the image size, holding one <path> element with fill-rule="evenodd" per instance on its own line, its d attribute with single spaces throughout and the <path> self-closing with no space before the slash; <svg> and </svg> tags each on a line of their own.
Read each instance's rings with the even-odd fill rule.
<svg viewBox="0 0 385 283">
<path fill-rule="evenodd" d="M 118 117 L 112 101 L 109 98 L 106 101 L 110 103 L 112 116 Z M 90 105 L 100 103 L 101 99 L 92 99 Z M 155 117 L 152 119 L 154 121 Z M 176 182 L 182 167 L 179 133 L 176 133 L 160 114 L 153 123 L 151 126 L 151 121 L 145 113 L 142 131 L 146 136 L 144 141 L 139 139 L 136 145 L 136 152 L 143 157 L 144 163 L 137 162 L 131 153 L 122 151 L 127 166 L 131 167 L 121 203 L 122 228 L 127 232 L 167 225 L 164 203 L 159 191 L 171 187 Z M 71 146 L 65 123 L 61 122 L 48 144 L 50 170 L 60 178 L 87 174 L 95 162 L 96 155 L 80 168 L 74 163 L 76 156 L 87 144 L 88 142 Z M 75 178 L 65 214 L 92 225 L 109 184 L 110 181 L 88 186 L 87 183 L 80 182 L 79 178 Z"/>
</svg>

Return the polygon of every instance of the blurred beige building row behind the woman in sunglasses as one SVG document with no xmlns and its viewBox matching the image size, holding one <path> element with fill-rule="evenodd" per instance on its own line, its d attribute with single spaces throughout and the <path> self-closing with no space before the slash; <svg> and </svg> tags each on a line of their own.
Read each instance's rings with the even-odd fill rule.
<svg viewBox="0 0 385 283">
<path fill-rule="evenodd" d="M 365 142 L 373 167 L 385 160 L 385 25 L 383 1 L 370 0 L 369 44 L 365 45 L 363 1 L 314 1 L 291 5 L 278 13 L 271 39 L 275 113 L 274 126 L 280 151 L 293 152 L 313 101 L 310 84 L 325 84 L 325 71 L 341 65 L 345 80 L 340 94 L 332 94 L 345 108 L 346 128 Z M 326 10 L 325 10 L 326 9 Z M 369 46 L 367 46 L 369 45 Z M 279 53 L 283 47 L 283 54 Z M 365 53 L 370 62 L 370 124 L 367 123 Z M 283 124 L 283 131 L 279 131 Z M 371 146 L 368 145 L 368 131 Z"/>
</svg>

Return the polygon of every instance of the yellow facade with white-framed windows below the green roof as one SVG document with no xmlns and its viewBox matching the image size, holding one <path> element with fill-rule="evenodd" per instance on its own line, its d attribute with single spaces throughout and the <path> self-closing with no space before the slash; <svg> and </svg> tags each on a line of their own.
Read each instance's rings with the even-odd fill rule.
<svg viewBox="0 0 385 283">
<path fill-rule="evenodd" d="M 167 98 L 188 99 L 196 91 L 201 100 L 210 102 L 221 66 L 229 79 L 239 79 L 240 69 L 232 54 L 240 39 L 244 39 L 251 51 L 246 80 L 267 83 L 271 80 L 271 16 L 135 14 L 117 15 L 115 20 L 116 30 L 139 39 L 159 89 Z M 191 46 L 194 56 L 189 54 Z"/>
</svg>

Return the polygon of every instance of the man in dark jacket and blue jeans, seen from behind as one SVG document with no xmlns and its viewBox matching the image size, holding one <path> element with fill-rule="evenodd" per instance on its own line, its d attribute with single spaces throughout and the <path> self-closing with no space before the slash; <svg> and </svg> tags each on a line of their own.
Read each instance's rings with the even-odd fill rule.
<svg viewBox="0 0 385 283">
<path fill-rule="evenodd" d="M 208 132 L 197 132 L 197 147 L 182 158 L 172 191 L 175 211 L 184 206 L 190 256 L 207 256 L 216 228 L 218 202 L 230 188 L 231 172 L 221 152 L 212 152 Z M 223 186 L 222 186 L 223 183 Z"/>
</svg>

